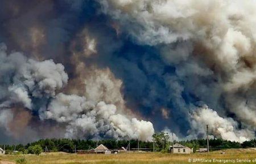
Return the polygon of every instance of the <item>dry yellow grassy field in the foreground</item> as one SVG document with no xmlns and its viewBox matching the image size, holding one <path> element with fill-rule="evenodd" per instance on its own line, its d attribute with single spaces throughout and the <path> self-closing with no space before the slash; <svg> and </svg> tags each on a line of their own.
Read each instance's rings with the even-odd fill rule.
<svg viewBox="0 0 256 164">
<path fill-rule="evenodd" d="M 168 154 L 168 153 L 123 153 L 123 154 L 68 154 L 68 153 L 47 153 L 35 156 L 31 154 L 25 155 L 27 163 L 175 163 L 183 164 L 189 163 L 189 159 L 251 159 L 251 162 L 235 162 L 235 163 L 256 163 L 252 162 L 256 158 L 256 149 L 228 149 L 222 150 L 225 154 L 221 154 L 221 151 L 207 153 L 194 153 L 194 154 Z M 22 155 L 4 155 L 0 156 L 0 163 L 9 161 L 14 162 L 18 158 L 22 158 Z M 255 159 L 256 160 L 256 159 Z M 190 162 L 190 163 L 220 163 L 220 162 Z M 222 162 L 224 163 L 224 162 Z M 228 162 L 233 163 L 233 162 Z"/>
</svg>

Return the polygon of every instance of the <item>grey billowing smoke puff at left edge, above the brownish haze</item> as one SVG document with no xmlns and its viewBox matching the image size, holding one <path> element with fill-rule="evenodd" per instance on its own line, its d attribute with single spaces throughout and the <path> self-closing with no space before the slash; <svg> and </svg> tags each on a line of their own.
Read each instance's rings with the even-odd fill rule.
<svg viewBox="0 0 256 164">
<path fill-rule="evenodd" d="M 6 45 L 1 44 L 1 97 L 7 99 L 2 105 L 20 102 L 32 109 L 32 97 L 52 97 L 67 84 L 68 75 L 62 64 L 34 61 L 18 52 L 7 55 L 6 50 Z"/>
</svg>

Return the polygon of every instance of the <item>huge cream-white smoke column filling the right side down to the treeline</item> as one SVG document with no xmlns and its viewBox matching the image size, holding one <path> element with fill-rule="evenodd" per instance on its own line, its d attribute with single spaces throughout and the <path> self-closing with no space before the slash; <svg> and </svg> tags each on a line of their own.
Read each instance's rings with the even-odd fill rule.
<svg viewBox="0 0 256 164">
<path fill-rule="evenodd" d="M 223 139 L 253 137 L 255 1 L 100 2 L 103 12 L 138 44 L 159 48 L 164 62 L 175 67 L 183 90 L 200 100 L 199 105 L 206 103 L 227 117 L 208 107 L 199 108 L 192 112 L 192 130 L 203 131 L 205 127 L 198 126 L 203 123 L 210 125 L 212 135 Z M 193 110 L 195 105 L 187 107 Z M 237 130 L 238 123 L 244 130 Z"/>
</svg>

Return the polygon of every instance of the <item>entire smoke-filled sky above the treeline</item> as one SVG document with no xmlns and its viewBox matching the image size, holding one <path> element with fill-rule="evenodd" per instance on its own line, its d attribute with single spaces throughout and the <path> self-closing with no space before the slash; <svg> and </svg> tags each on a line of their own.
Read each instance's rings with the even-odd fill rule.
<svg viewBox="0 0 256 164">
<path fill-rule="evenodd" d="M 255 1 L 0 6 L 0 143 L 254 138 Z"/>
</svg>

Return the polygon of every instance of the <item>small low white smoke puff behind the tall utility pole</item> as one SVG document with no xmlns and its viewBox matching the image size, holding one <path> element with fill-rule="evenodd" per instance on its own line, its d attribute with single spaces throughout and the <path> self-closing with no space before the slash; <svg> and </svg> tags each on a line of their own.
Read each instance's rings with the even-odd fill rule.
<svg viewBox="0 0 256 164">
<path fill-rule="evenodd" d="M 221 137 L 224 140 L 243 141 L 253 139 L 254 132 L 249 129 L 238 129 L 238 123 L 232 118 L 222 118 L 216 111 L 203 106 L 193 112 L 191 135 L 206 136 L 206 125 L 209 125 L 209 135 Z"/>
</svg>

